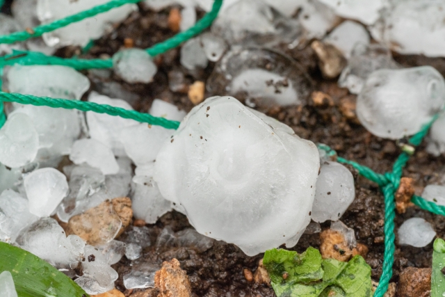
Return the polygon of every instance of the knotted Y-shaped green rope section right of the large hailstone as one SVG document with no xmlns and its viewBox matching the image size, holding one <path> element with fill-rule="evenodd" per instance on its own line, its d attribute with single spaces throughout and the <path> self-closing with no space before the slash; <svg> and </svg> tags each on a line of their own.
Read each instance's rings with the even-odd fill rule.
<svg viewBox="0 0 445 297">
<path fill-rule="evenodd" d="M 430 129 L 432 123 L 437 120 L 439 115 L 435 115 L 432 120 L 428 123 L 428 125 L 424 125 L 418 133 L 414 134 L 410 138 L 410 145 L 416 147 L 420 145 L 423 138 L 428 134 L 428 130 Z M 318 147 L 321 150 L 325 150 L 325 152 L 329 156 L 337 155 L 337 153 L 332 150 L 327 145 L 320 144 Z M 385 174 L 379 174 L 371 170 L 366 166 L 362 166 L 359 163 L 354 161 L 349 161 L 343 159 L 341 157 L 337 157 L 337 161 L 339 163 L 346 163 L 350 166 L 353 166 L 360 175 L 366 177 L 366 179 L 371 180 L 378 184 L 383 192 L 384 201 L 385 201 L 385 255 L 383 259 L 383 267 L 382 267 L 382 276 L 380 277 L 380 283 L 375 290 L 374 297 L 383 297 L 385 292 L 389 286 L 389 280 L 392 277 L 392 266 L 394 264 L 394 252 L 396 250 L 396 246 L 394 244 L 395 234 L 394 234 L 394 218 L 396 217 L 396 203 L 394 202 L 394 195 L 398 189 L 398 186 L 401 181 L 403 167 L 405 167 L 407 161 L 410 159 L 410 153 L 412 150 L 406 150 L 402 152 L 396 162 L 394 162 L 393 168 L 391 172 L 386 172 Z M 411 153 L 412 154 L 412 153 Z M 425 209 L 426 211 L 430 211 L 433 214 L 439 214 L 445 216 L 445 207 L 437 205 L 434 202 L 429 202 L 419 196 L 414 195 L 411 201 L 416 204 L 421 209 Z"/>
</svg>

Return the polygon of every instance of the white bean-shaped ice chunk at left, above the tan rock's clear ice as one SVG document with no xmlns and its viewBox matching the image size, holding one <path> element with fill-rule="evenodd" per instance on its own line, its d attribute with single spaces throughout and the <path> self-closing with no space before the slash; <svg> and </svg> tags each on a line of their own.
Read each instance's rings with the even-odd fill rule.
<svg viewBox="0 0 445 297">
<path fill-rule="evenodd" d="M 72 146 L 70 160 L 80 165 L 86 162 L 94 168 L 99 168 L 104 175 L 115 175 L 119 172 L 119 165 L 113 152 L 95 139 L 80 139 Z"/>
</svg>

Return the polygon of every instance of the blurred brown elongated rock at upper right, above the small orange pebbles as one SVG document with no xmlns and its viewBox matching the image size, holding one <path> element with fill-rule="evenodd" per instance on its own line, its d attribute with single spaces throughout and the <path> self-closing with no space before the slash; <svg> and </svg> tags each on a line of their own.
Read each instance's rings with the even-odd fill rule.
<svg viewBox="0 0 445 297">
<path fill-rule="evenodd" d="M 341 51 L 334 45 L 318 40 L 312 42 L 311 47 L 318 56 L 318 67 L 323 77 L 327 79 L 338 77 L 347 64 L 346 58 L 343 57 Z"/>
</svg>

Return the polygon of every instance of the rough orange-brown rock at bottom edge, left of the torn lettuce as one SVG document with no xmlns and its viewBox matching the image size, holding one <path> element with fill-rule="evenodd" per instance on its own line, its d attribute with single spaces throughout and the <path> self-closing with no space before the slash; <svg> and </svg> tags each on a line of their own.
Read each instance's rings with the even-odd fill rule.
<svg viewBox="0 0 445 297">
<path fill-rule="evenodd" d="M 191 297 L 191 286 L 186 271 L 177 259 L 163 262 L 154 275 L 154 287 L 159 289 L 159 297 Z"/>
</svg>

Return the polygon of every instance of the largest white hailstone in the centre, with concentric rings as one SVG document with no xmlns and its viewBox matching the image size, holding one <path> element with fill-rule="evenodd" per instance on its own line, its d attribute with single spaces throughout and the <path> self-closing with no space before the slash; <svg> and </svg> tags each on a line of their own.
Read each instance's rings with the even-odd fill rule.
<svg viewBox="0 0 445 297">
<path fill-rule="evenodd" d="M 320 161 L 314 143 L 234 97 L 211 97 L 165 142 L 154 180 L 201 234 L 247 255 L 296 245 L 309 224 Z"/>
</svg>

